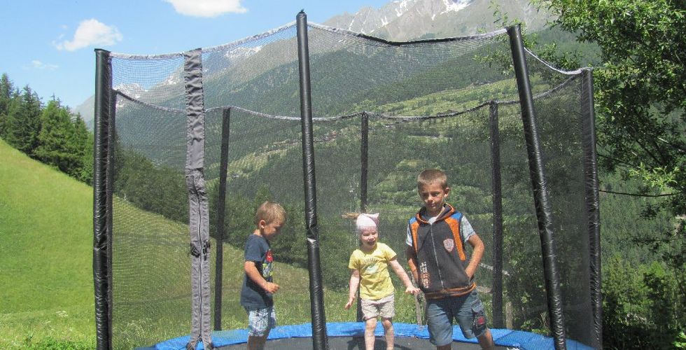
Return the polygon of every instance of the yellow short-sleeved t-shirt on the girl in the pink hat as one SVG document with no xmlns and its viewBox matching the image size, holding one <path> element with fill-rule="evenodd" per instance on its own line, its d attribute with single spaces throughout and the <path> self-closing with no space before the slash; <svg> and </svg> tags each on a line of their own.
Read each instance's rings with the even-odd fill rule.
<svg viewBox="0 0 686 350">
<path fill-rule="evenodd" d="M 348 267 L 360 272 L 360 298 L 379 300 L 393 294 L 395 288 L 388 274 L 388 263 L 395 258 L 395 251 L 383 243 L 369 253 L 355 249 L 350 255 Z"/>
</svg>

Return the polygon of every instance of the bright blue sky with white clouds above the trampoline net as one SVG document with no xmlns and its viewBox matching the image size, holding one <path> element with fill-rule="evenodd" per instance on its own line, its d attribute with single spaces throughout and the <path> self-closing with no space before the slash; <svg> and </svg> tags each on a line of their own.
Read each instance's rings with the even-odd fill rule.
<svg viewBox="0 0 686 350">
<path fill-rule="evenodd" d="M 0 73 L 76 107 L 94 92 L 94 48 L 155 55 L 230 43 L 295 20 L 379 8 L 388 0 L 7 0 Z"/>
</svg>

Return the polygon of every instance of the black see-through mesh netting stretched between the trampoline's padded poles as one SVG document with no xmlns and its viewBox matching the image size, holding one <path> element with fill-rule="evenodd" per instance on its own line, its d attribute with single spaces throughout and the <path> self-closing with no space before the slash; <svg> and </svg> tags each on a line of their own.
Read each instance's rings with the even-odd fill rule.
<svg viewBox="0 0 686 350">
<path fill-rule="evenodd" d="M 281 286 L 275 296 L 279 324 L 311 320 L 295 35 L 289 25 L 202 50 L 211 293 L 213 302 L 221 293 L 222 329 L 246 327 L 239 305 L 243 246 L 254 230 L 255 208 L 267 199 L 288 211 L 288 223 L 272 244 L 279 262 L 274 272 Z M 326 321 L 356 319 L 343 305 L 348 259 L 357 241 L 353 221 L 341 215 L 380 213 L 379 239 L 406 266 L 406 225 L 421 204 L 416 176 L 440 168 L 451 187 L 448 202 L 486 245 L 477 284 L 489 318 L 495 312 L 492 296 L 502 293 L 503 327 L 549 334 L 540 237 L 505 31 L 402 45 L 320 25 L 309 25 L 308 35 Z M 111 328 L 115 348 L 132 348 L 190 330 L 184 57 L 111 57 L 117 92 Z M 580 73 L 554 71 L 531 55 L 527 59 L 567 337 L 593 344 Z M 493 143 L 496 116 L 499 139 Z M 228 153 L 219 230 L 223 134 Z M 493 215 L 494 151 L 500 155 L 495 165 L 502 194 L 500 256 L 493 255 L 494 228 L 500 225 Z M 217 276 L 220 234 L 223 265 Z M 502 290 L 493 288 L 498 261 Z M 215 289 L 218 277 L 221 290 Z M 393 279 L 394 321 L 418 321 L 414 297 L 403 295 L 402 283 Z"/>
</svg>

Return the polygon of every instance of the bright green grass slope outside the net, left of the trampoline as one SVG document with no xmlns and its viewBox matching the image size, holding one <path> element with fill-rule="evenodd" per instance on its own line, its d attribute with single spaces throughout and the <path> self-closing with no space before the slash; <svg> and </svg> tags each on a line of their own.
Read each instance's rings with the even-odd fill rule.
<svg viewBox="0 0 686 350">
<path fill-rule="evenodd" d="M 94 342 L 92 188 L 0 140 L 0 349 Z"/>
</svg>

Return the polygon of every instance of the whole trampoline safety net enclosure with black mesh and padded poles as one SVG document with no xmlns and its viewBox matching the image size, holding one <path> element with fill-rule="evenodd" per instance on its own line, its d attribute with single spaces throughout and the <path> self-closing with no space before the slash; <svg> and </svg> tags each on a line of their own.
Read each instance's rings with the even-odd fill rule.
<svg viewBox="0 0 686 350">
<path fill-rule="evenodd" d="M 272 241 L 279 325 L 311 323 L 325 349 L 326 322 L 358 317 L 342 309 L 358 246 L 342 214 L 379 213 L 406 266 L 426 168 L 484 241 L 494 334 L 601 345 L 591 71 L 553 69 L 519 27 L 399 43 L 300 13 L 212 48 L 96 53 L 98 349 L 221 346 L 246 328 L 243 248 L 265 200 L 288 212 Z M 392 276 L 394 321 L 423 323 Z"/>
</svg>

